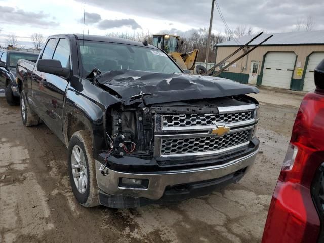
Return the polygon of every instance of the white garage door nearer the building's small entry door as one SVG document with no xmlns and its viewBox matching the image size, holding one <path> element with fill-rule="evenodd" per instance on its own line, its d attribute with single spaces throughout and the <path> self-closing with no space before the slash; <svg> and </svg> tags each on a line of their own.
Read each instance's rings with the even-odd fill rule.
<svg viewBox="0 0 324 243">
<path fill-rule="evenodd" d="M 265 57 L 262 85 L 290 89 L 295 60 L 292 52 L 269 52 Z"/>
</svg>

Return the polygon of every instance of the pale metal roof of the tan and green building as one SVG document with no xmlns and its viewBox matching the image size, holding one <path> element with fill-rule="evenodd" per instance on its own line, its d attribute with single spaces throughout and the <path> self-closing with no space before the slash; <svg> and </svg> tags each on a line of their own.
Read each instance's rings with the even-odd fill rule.
<svg viewBox="0 0 324 243">
<path fill-rule="evenodd" d="M 249 46 L 255 46 L 262 42 L 264 39 L 272 34 L 262 34 L 256 38 Z M 250 39 L 255 37 L 256 34 L 245 35 L 241 38 L 223 42 L 215 45 L 215 47 L 222 46 L 240 46 L 246 44 Z M 275 46 L 275 45 L 324 45 L 324 30 L 309 31 L 309 32 L 291 32 L 291 33 L 274 33 L 273 36 L 268 39 L 262 46 Z"/>
</svg>

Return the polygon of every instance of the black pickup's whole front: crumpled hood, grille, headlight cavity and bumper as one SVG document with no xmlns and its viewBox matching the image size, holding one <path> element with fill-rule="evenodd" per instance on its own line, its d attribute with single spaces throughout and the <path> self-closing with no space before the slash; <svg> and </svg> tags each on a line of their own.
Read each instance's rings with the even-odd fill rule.
<svg viewBox="0 0 324 243">
<path fill-rule="evenodd" d="M 96 160 L 100 203 L 129 208 L 209 194 L 239 181 L 259 149 L 255 87 L 226 79 L 120 70 L 96 78 L 108 151 Z"/>
</svg>

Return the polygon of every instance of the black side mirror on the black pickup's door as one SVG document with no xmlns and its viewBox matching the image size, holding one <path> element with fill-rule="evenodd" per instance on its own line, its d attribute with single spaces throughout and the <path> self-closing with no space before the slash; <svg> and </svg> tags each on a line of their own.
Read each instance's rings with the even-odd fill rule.
<svg viewBox="0 0 324 243">
<path fill-rule="evenodd" d="M 55 59 L 39 59 L 37 62 L 37 70 L 65 78 L 70 75 L 70 69 L 63 68 L 61 62 Z"/>
</svg>

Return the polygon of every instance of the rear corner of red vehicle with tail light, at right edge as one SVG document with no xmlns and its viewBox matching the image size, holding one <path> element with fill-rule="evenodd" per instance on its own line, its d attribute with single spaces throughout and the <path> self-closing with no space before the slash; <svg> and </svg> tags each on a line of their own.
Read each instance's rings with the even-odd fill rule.
<svg viewBox="0 0 324 243">
<path fill-rule="evenodd" d="M 324 242 L 324 60 L 304 97 L 273 193 L 262 243 Z"/>
</svg>

